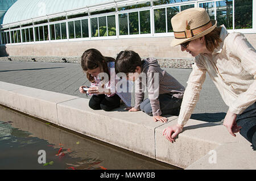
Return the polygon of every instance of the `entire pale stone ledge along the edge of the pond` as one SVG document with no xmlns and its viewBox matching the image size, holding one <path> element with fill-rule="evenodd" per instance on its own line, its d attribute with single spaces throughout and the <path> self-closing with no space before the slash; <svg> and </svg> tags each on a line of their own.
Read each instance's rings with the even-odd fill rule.
<svg viewBox="0 0 256 181">
<path fill-rule="evenodd" d="M 240 134 L 222 125 L 189 120 L 174 144 L 162 135 L 176 124 L 154 122 L 143 112 L 91 110 L 88 99 L 0 82 L 0 104 L 98 140 L 187 169 L 256 169 L 256 152 Z M 217 163 L 209 163 L 209 151 Z M 231 154 L 232 153 L 232 154 Z"/>
</svg>

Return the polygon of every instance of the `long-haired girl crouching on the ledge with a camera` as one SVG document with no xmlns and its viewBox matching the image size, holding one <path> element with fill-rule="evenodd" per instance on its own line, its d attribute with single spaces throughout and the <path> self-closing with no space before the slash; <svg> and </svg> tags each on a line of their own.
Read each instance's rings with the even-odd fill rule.
<svg viewBox="0 0 256 181">
<path fill-rule="evenodd" d="M 81 86 L 79 91 L 82 94 L 92 95 L 89 101 L 90 108 L 93 110 L 111 111 L 120 106 L 120 100 L 122 99 L 126 104 L 126 110 L 130 109 L 130 92 L 117 92 L 115 90 L 117 80 L 115 79 L 114 58 L 102 56 L 101 52 L 97 49 L 88 49 L 82 54 L 81 67 L 86 72 L 86 77 L 90 81 L 91 86 L 88 91 L 84 90 L 86 86 Z M 103 78 L 100 76 L 102 73 L 106 75 Z"/>
</svg>

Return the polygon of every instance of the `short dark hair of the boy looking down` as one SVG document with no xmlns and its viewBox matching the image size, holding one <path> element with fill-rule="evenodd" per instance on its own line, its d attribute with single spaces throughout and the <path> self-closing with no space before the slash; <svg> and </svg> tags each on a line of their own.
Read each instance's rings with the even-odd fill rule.
<svg viewBox="0 0 256 181">
<path fill-rule="evenodd" d="M 134 73 L 137 66 L 142 66 L 141 57 L 132 50 L 125 50 L 118 53 L 115 60 L 115 73 Z"/>
</svg>

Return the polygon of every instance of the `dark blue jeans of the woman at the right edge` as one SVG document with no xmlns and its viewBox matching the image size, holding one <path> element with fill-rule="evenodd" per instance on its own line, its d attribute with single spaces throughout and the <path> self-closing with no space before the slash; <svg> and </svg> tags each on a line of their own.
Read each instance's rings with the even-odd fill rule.
<svg viewBox="0 0 256 181">
<path fill-rule="evenodd" d="M 253 149 L 256 149 L 256 102 L 247 107 L 241 115 L 237 115 L 237 125 L 241 126 L 240 134 L 246 138 Z"/>
</svg>

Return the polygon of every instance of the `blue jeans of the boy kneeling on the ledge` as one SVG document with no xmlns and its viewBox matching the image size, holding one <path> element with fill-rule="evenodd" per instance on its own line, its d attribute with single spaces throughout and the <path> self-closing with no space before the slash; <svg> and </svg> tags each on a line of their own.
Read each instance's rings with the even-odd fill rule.
<svg viewBox="0 0 256 181">
<path fill-rule="evenodd" d="M 182 99 L 175 98 L 171 94 L 160 94 L 158 99 L 162 115 L 179 116 Z M 152 107 L 149 99 L 143 100 L 139 107 L 147 115 L 152 116 Z"/>
</svg>

